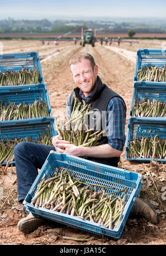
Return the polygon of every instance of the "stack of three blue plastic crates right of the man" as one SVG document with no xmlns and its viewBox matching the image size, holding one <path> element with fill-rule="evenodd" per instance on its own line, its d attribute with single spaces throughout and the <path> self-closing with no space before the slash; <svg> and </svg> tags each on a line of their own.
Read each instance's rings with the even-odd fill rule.
<svg viewBox="0 0 166 256">
<path fill-rule="evenodd" d="M 127 124 L 127 136 L 125 146 L 125 159 L 127 161 L 137 161 L 139 163 L 150 163 L 151 158 L 128 157 L 129 140 L 135 136 L 148 135 L 147 130 L 153 128 L 153 135 L 161 135 L 165 139 L 166 118 L 165 117 L 135 117 L 132 115 L 134 100 L 144 100 L 146 97 L 152 101 L 163 101 L 166 104 L 166 82 L 137 81 L 137 72 L 144 66 L 164 67 L 166 63 L 166 50 L 162 49 L 139 49 L 137 51 L 136 66 L 134 71 L 133 92 L 131 108 Z M 144 127 L 144 129 L 143 129 Z M 142 133 L 141 133 L 142 131 Z M 138 135 L 139 134 L 139 135 Z M 165 159 L 154 159 L 165 163 Z"/>
</svg>

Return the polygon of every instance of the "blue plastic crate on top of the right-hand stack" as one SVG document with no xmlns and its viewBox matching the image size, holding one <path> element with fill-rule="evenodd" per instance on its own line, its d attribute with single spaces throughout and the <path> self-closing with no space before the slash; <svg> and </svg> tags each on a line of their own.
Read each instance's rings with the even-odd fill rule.
<svg viewBox="0 0 166 256">
<path fill-rule="evenodd" d="M 139 49 L 137 51 L 136 67 L 134 72 L 134 81 L 137 81 L 137 71 L 142 67 L 151 64 L 151 66 L 164 66 L 166 63 L 166 50 L 164 49 Z M 156 83 L 156 82 L 154 82 Z"/>
</svg>

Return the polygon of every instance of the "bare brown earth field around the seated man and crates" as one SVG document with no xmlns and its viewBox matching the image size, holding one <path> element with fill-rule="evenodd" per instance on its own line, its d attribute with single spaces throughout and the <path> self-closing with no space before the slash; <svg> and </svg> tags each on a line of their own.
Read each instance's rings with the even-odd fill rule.
<svg viewBox="0 0 166 256">
<path fill-rule="evenodd" d="M 68 95 L 74 88 L 68 62 L 76 52 L 91 53 L 99 67 L 99 76 L 102 82 L 119 93 L 127 105 L 127 121 L 131 105 L 134 67 L 136 51 L 138 48 L 163 48 L 162 40 L 138 40 L 138 43 L 121 43 L 111 46 L 96 43 L 95 47 L 79 43 L 60 42 L 54 46 L 42 45 L 40 41 L 0 41 L 3 43 L 3 53 L 13 52 L 39 52 L 44 82 L 49 91 L 50 104 L 53 116 L 60 118 L 65 115 L 65 106 Z M 143 185 L 141 197 L 151 203 L 157 210 L 160 223 L 153 225 L 144 218 L 128 218 L 121 239 L 106 240 L 79 229 L 66 227 L 48 220 L 31 234 L 24 235 L 17 228 L 18 221 L 23 217 L 22 205 L 17 202 L 17 181 L 15 180 L 15 167 L 8 168 L 6 174 L 0 169 L 0 244 L 55 244 L 55 245 L 162 245 L 166 244 L 166 166 L 162 164 L 138 164 L 125 160 L 125 151 L 121 156 L 120 168 L 141 173 Z M 3 196 L 1 196 L 3 195 Z M 74 238 L 87 238 L 88 242 L 65 240 L 63 236 Z"/>
</svg>

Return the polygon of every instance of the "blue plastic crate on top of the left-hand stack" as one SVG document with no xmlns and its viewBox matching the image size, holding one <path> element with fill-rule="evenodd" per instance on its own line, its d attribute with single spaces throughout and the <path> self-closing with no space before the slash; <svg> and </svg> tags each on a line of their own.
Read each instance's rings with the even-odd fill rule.
<svg viewBox="0 0 166 256">
<path fill-rule="evenodd" d="M 6 53 L 0 55 L 0 71 L 19 71 L 22 68 L 37 68 L 40 73 L 40 83 L 43 83 L 42 68 L 38 52 Z"/>
</svg>

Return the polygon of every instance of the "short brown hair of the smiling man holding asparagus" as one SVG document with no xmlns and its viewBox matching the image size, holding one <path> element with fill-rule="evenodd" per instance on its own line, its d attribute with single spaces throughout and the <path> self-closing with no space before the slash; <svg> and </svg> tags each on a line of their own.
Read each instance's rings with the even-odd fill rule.
<svg viewBox="0 0 166 256">
<path fill-rule="evenodd" d="M 69 67 L 71 66 L 71 64 L 81 62 L 82 58 L 86 58 L 86 60 L 89 60 L 91 63 L 91 67 L 94 70 L 96 63 L 95 63 L 94 57 L 88 52 L 79 52 L 79 53 L 76 53 L 74 56 L 72 56 L 71 60 L 69 61 Z"/>
</svg>

